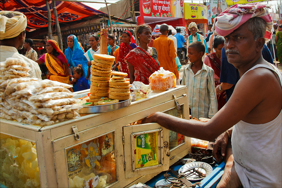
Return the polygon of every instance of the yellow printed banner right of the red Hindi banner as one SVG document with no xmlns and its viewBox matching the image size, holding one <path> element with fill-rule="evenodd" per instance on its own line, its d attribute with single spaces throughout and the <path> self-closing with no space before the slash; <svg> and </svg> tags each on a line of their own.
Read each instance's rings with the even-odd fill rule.
<svg viewBox="0 0 282 188">
<path fill-rule="evenodd" d="M 184 3 L 185 19 L 207 19 L 206 5 Z"/>
</svg>

